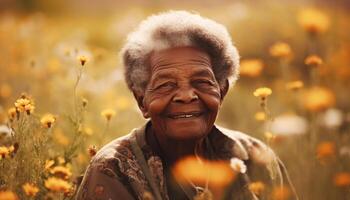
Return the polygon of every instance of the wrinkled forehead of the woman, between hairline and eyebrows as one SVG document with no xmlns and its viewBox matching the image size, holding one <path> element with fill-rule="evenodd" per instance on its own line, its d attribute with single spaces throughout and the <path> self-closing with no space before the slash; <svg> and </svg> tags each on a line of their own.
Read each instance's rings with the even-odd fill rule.
<svg viewBox="0 0 350 200">
<path fill-rule="evenodd" d="M 211 69 L 210 56 L 196 47 L 173 47 L 153 52 L 149 58 L 151 71 L 159 67 L 176 66 L 185 64 L 198 64 L 208 66 Z"/>
</svg>

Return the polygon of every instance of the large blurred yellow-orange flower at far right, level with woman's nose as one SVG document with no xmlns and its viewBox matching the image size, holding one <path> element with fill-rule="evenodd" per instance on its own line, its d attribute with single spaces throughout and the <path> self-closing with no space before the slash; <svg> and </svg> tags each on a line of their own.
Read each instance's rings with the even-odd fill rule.
<svg viewBox="0 0 350 200">
<path fill-rule="evenodd" d="M 327 88 L 315 87 L 304 95 L 304 106 L 312 112 L 323 111 L 335 104 L 333 92 Z"/>
</svg>

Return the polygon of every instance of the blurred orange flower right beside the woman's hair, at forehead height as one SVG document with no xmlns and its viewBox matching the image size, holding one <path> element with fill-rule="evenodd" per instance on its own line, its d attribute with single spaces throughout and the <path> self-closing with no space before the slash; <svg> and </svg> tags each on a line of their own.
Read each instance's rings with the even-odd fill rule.
<svg viewBox="0 0 350 200">
<path fill-rule="evenodd" d="M 240 64 L 239 74 L 248 77 L 257 77 L 261 74 L 264 63 L 259 59 L 243 60 Z"/>
</svg>

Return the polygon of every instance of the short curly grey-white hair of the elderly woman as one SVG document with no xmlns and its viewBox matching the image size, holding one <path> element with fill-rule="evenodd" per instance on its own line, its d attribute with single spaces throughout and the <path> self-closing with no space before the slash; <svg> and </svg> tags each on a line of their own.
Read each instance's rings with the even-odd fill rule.
<svg viewBox="0 0 350 200">
<path fill-rule="evenodd" d="M 233 85 L 239 74 L 239 55 L 227 29 L 208 18 L 187 11 L 152 15 L 130 33 L 121 50 L 125 80 L 133 92 L 143 93 L 150 79 L 149 56 L 172 47 L 193 46 L 211 58 L 220 87 Z"/>
</svg>

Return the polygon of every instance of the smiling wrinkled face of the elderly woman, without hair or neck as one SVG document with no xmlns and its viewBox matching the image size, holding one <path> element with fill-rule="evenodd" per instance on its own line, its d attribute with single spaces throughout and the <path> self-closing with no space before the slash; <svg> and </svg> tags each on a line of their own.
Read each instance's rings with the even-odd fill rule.
<svg viewBox="0 0 350 200">
<path fill-rule="evenodd" d="M 153 131 L 168 139 L 192 140 L 212 129 L 221 93 L 210 57 L 193 47 L 155 52 L 141 110 Z"/>
</svg>

